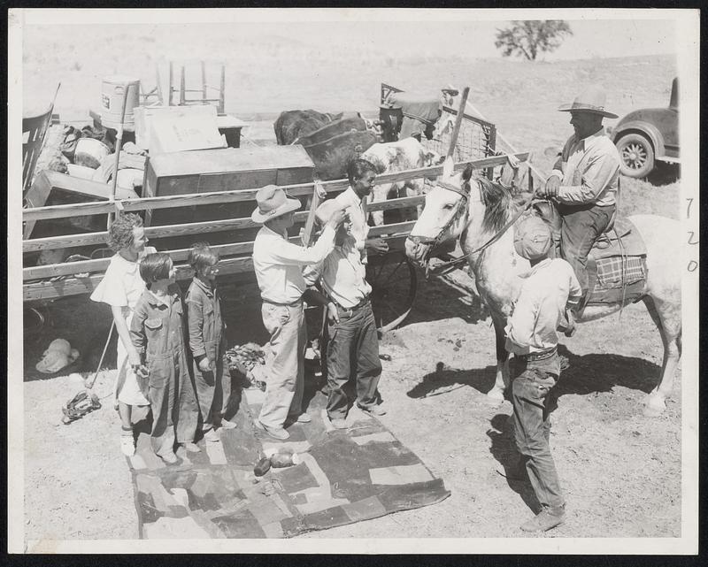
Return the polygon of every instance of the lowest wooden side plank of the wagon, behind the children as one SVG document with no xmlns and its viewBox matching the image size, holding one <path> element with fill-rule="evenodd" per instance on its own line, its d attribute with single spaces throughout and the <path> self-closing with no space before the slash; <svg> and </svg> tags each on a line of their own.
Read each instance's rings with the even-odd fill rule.
<svg viewBox="0 0 708 567">
<path fill-rule="evenodd" d="M 238 274 L 253 271 L 250 257 L 227 258 L 219 262 L 219 275 Z M 177 279 L 189 280 L 194 275 L 188 265 L 177 266 Z M 60 281 L 39 281 L 22 287 L 22 299 L 25 302 L 56 299 L 69 295 L 90 294 L 104 277 L 103 273 L 93 274 L 89 278 L 68 278 Z"/>
</svg>

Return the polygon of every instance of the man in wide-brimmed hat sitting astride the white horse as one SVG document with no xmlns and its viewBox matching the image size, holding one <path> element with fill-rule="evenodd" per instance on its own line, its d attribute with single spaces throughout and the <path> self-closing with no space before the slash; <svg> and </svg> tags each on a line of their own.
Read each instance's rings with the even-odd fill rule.
<svg viewBox="0 0 708 567">
<path fill-rule="evenodd" d="M 620 183 L 620 152 L 604 134 L 604 91 L 592 86 L 558 111 L 570 112 L 575 133 L 568 139 L 545 188 L 558 202 L 563 220 L 560 253 L 575 271 L 582 294 L 588 294 L 588 255 L 597 238 L 610 226 Z M 583 302 L 581 302 L 583 303 Z"/>
</svg>

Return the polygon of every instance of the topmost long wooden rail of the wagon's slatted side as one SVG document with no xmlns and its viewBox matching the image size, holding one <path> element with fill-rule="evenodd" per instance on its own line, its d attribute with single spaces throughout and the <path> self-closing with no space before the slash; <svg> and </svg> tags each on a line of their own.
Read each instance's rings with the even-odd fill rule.
<svg viewBox="0 0 708 567">
<path fill-rule="evenodd" d="M 525 161 L 528 153 L 514 154 L 520 161 Z M 472 164 L 477 169 L 486 169 L 497 165 L 504 165 L 506 156 L 484 157 L 466 162 L 459 162 L 455 165 L 454 171 L 462 171 L 466 165 Z M 419 169 L 407 170 L 404 172 L 385 173 L 376 178 L 376 185 L 391 183 L 394 181 L 414 180 L 421 177 L 436 177 L 443 173 L 443 165 L 434 167 L 423 167 Z M 322 187 L 327 193 L 342 191 L 349 187 L 348 180 L 324 181 Z M 312 183 L 300 183 L 297 185 L 283 186 L 289 195 L 311 195 Z M 238 189 L 234 191 L 216 191 L 212 193 L 189 193 L 185 195 L 166 195 L 162 197 L 146 197 L 142 199 L 128 199 L 122 201 L 125 211 L 143 211 L 146 209 L 169 209 L 172 207 L 188 207 L 201 204 L 236 203 L 241 201 L 253 201 L 258 193 L 256 189 Z M 73 216 L 105 214 L 115 211 L 112 203 L 75 203 L 64 205 L 53 205 L 50 207 L 27 208 L 22 211 L 22 219 L 40 220 L 42 218 L 68 218 Z"/>
</svg>

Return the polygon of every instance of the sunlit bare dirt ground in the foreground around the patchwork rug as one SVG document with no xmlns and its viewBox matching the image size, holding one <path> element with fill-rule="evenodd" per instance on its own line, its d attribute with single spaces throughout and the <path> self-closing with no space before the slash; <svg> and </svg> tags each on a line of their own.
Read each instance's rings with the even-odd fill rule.
<svg viewBox="0 0 708 567">
<path fill-rule="evenodd" d="M 411 316 L 381 341 L 381 353 L 391 357 L 382 362 L 381 394 L 389 413 L 381 421 L 444 479 L 450 498 L 301 537 L 523 535 L 517 526 L 532 514 L 534 502 L 527 485 L 502 476 L 513 455 L 507 422 L 512 406 L 486 402 L 494 381 L 493 333 L 483 308 L 470 299 L 471 283 L 463 272 L 423 280 Z M 243 302 L 250 309 L 230 306 L 231 341 L 265 339 L 253 302 Z M 86 376 L 96 368 L 108 314 L 89 302 L 66 303 L 53 312 L 53 327 L 27 343 L 25 354 L 27 540 L 133 539 L 133 487 L 110 397 L 114 355 L 96 380 L 104 407 L 71 425 L 61 424 L 60 406 L 81 389 L 81 379 L 46 379 L 32 367 L 60 333 L 82 353 L 67 371 Z M 548 537 L 679 536 L 681 380 L 666 413 L 644 418 L 641 402 L 658 379 L 661 341 L 643 306 L 628 308 L 621 319 L 581 326 L 563 352 L 572 366 L 558 385 L 551 443 L 569 519 Z"/>
</svg>

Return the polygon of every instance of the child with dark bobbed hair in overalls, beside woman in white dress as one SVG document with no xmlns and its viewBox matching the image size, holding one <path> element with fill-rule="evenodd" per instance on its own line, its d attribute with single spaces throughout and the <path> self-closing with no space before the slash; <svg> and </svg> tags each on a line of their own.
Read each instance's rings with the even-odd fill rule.
<svg viewBox="0 0 708 567">
<path fill-rule="evenodd" d="M 166 254 L 149 254 L 140 264 L 147 289 L 135 305 L 130 336 L 142 358 L 142 389 L 152 410 L 150 442 L 166 464 L 178 464 L 175 440 L 189 452 L 194 444 L 199 409 L 184 345 L 184 318 L 174 266 Z M 145 368 L 146 367 L 146 368 Z"/>
</svg>

